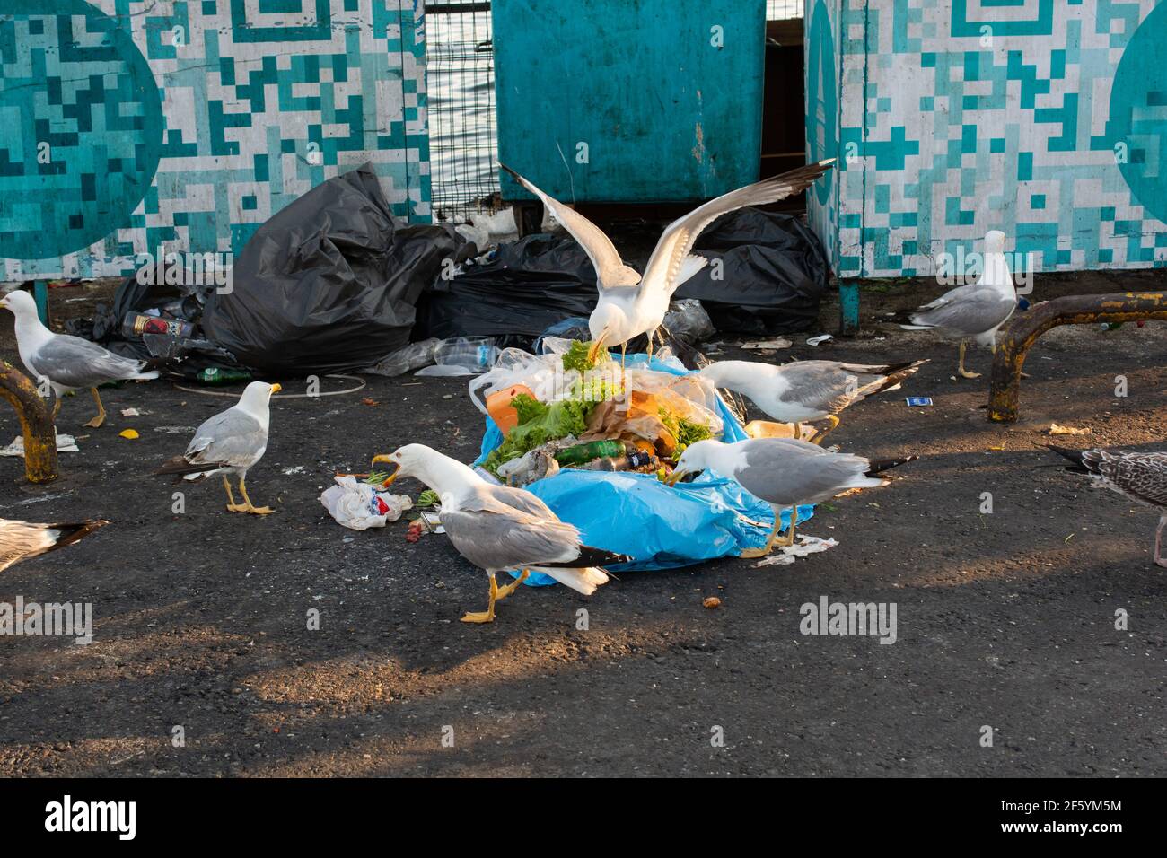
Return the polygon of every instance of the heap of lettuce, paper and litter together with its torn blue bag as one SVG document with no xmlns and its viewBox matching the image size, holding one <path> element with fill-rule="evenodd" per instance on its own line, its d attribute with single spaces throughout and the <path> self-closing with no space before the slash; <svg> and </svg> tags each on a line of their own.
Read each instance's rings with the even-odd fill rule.
<svg viewBox="0 0 1167 858">
<path fill-rule="evenodd" d="M 543 348 L 541 355 L 504 349 L 470 382 L 487 425 L 480 473 L 523 486 L 585 542 L 602 539 L 634 558 L 617 572 L 684 566 L 766 543 L 774 511 L 735 481 L 706 472 L 690 483 L 664 482 L 689 444 L 747 437 L 710 382 L 668 353 L 593 367 L 576 341 L 548 337 Z"/>
</svg>

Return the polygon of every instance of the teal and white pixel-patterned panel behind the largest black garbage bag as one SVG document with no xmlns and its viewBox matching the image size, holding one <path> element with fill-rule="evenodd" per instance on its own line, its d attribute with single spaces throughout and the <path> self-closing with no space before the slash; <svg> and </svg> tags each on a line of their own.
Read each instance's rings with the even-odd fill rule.
<svg viewBox="0 0 1167 858">
<path fill-rule="evenodd" d="M 421 0 L 4 0 L 0 280 L 238 253 L 371 161 L 429 219 Z"/>
</svg>

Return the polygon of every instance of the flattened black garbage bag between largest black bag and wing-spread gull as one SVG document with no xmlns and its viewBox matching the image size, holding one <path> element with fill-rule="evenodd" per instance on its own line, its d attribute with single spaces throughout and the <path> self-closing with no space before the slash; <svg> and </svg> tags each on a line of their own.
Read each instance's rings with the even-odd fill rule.
<svg viewBox="0 0 1167 858">
<path fill-rule="evenodd" d="M 492 336 L 526 348 L 555 322 L 595 308 L 595 268 L 569 236 L 527 236 L 463 268 L 421 301 L 414 340 Z"/>
</svg>

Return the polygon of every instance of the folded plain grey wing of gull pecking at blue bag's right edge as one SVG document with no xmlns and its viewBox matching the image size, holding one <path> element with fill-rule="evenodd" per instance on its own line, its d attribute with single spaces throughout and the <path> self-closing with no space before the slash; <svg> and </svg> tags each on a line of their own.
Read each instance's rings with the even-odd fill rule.
<svg viewBox="0 0 1167 858">
<path fill-rule="evenodd" d="M 830 500 L 865 479 L 869 467 L 861 456 L 830 453 L 805 441 L 766 440 L 739 441 L 746 467 L 735 476 L 747 491 L 770 503 L 792 507 Z"/>
</svg>

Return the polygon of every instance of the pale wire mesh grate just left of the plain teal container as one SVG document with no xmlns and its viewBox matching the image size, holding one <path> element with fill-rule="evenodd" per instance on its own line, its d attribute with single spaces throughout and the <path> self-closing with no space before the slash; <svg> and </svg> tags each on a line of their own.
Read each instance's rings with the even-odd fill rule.
<svg viewBox="0 0 1167 858">
<path fill-rule="evenodd" d="M 426 91 L 434 219 L 466 223 L 498 202 L 490 4 L 426 0 Z"/>
</svg>

